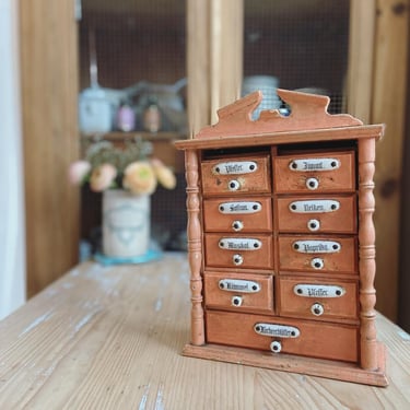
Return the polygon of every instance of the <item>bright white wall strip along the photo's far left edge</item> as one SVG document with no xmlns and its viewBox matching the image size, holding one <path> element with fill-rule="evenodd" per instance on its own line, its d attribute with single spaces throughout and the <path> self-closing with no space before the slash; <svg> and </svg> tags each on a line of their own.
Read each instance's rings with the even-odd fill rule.
<svg viewBox="0 0 410 410">
<path fill-rule="evenodd" d="M 0 0 L 0 319 L 25 301 L 17 3 Z"/>
</svg>

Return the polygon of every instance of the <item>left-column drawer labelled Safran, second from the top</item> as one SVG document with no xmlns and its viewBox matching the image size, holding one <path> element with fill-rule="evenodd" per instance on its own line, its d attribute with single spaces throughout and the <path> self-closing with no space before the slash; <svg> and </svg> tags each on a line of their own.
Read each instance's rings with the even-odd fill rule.
<svg viewBox="0 0 410 410">
<path fill-rule="evenodd" d="M 203 221 L 207 232 L 271 232 L 271 199 L 206 199 Z"/>
</svg>

